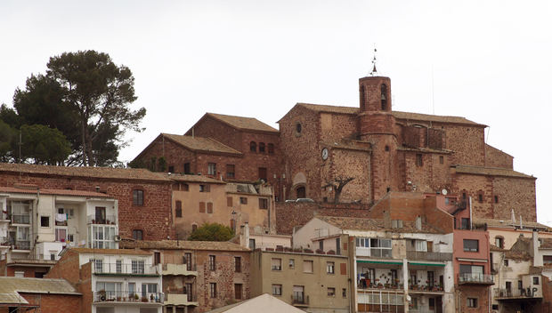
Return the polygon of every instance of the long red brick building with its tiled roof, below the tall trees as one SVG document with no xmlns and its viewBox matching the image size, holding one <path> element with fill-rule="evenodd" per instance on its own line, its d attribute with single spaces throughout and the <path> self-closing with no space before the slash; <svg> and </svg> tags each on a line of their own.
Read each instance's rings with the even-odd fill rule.
<svg viewBox="0 0 552 313">
<path fill-rule="evenodd" d="M 119 236 L 174 237 L 171 183 L 144 169 L 66 167 L 0 163 L 0 186 L 27 184 L 40 189 L 87 190 L 118 200 Z"/>
</svg>

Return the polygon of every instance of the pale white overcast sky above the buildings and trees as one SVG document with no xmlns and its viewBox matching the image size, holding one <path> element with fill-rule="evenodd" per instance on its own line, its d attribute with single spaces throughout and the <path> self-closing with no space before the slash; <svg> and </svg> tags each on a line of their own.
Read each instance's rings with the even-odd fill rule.
<svg viewBox="0 0 552 313">
<path fill-rule="evenodd" d="M 552 225 L 551 16 L 547 0 L 2 1 L 0 102 L 53 55 L 108 52 L 148 110 L 129 161 L 206 112 L 277 127 L 299 101 L 357 106 L 376 44 L 394 110 L 489 125 L 488 143 L 539 178 L 539 221 Z"/>
</svg>

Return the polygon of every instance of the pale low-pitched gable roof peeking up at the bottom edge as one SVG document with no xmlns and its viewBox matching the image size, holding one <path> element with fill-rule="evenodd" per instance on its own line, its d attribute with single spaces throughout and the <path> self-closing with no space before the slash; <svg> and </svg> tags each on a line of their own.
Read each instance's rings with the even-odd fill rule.
<svg viewBox="0 0 552 313">
<path fill-rule="evenodd" d="M 222 308 L 212 309 L 207 311 L 207 313 L 256 313 L 261 311 L 264 313 L 304 313 L 304 310 L 297 309 L 296 307 L 281 301 L 268 293 L 261 294 L 246 301 L 227 305 Z"/>
</svg>

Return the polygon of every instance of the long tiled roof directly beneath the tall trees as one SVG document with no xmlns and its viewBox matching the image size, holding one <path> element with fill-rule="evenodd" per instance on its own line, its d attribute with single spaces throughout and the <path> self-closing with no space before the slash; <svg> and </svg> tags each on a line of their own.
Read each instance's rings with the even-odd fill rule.
<svg viewBox="0 0 552 313">
<path fill-rule="evenodd" d="M 159 173 L 152 173 L 143 168 L 114 168 L 114 167 L 88 167 L 88 166 L 73 167 L 73 166 L 24 165 L 24 164 L 0 163 L 0 172 L 168 182 L 168 180 L 163 175 Z"/>
</svg>

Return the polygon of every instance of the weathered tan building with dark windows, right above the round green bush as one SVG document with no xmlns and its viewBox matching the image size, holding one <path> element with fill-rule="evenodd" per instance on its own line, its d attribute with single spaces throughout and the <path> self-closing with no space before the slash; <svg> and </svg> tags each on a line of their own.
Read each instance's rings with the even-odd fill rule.
<svg viewBox="0 0 552 313">
<path fill-rule="evenodd" d="M 187 238 L 204 223 L 219 223 L 239 232 L 248 223 L 251 232 L 275 229 L 272 188 L 261 184 L 226 183 L 202 175 L 168 174 L 173 183 L 173 224 L 177 239 Z"/>
</svg>

